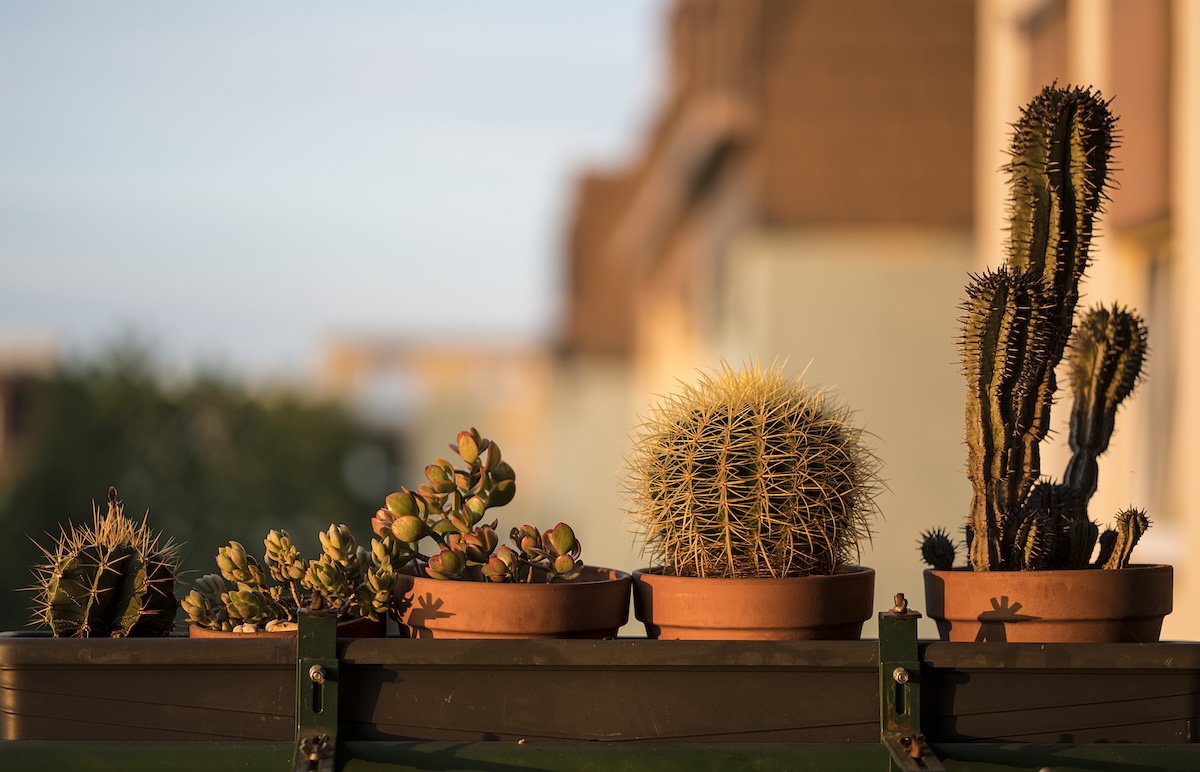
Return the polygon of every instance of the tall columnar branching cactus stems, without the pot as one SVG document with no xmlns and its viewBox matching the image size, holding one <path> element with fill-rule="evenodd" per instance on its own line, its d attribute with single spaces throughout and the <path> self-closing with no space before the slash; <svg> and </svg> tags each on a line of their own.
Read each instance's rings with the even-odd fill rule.
<svg viewBox="0 0 1200 772">
<path fill-rule="evenodd" d="M 1146 357 L 1136 313 L 1096 306 L 1075 321 L 1114 144 L 1109 102 L 1090 89 L 1048 86 L 1015 125 L 1007 264 L 972 277 L 960 341 L 973 489 L 966 541 L 978 571 L 1123 568 L 1148 527 L 1136 509 L 1120 513 L 1104 534 L 1088 516 L 1097 459 Z M 1064 357 L 1072 456 L 1052 480 L 1042 475 L 1039 447 Z M 924 534 L 925 561 L 950 568 L 948 543 L 943 531 Z"/>
</svg>

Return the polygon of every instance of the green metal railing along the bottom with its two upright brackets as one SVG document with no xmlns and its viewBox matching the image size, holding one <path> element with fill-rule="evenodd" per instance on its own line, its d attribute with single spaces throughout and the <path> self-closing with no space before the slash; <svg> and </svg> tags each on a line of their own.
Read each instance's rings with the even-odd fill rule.
<svg viewBox="0 0 1200 772">
<path fill-rule="evenodd" d="M 2 741 L 0 770 L 1200 770 L 1200 746 L 1192 743 L 940 743 L 925 737 L 919 616 L 902 596 L 878 615 L 877 743 L 341 740 L 335 620 L 304 614 L 294 741 Z M 805 699 L 821 695 L 797 695 Z"/>
</svg>

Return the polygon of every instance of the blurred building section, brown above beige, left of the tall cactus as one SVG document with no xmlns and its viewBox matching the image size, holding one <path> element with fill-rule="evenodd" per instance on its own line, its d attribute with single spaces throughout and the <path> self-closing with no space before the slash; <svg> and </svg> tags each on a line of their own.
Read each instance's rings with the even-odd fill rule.
<svg viewBox="0 0 1200 772">
<path fill-rule="evenodd" d="M 890 489 L 863 556 L 880 608 L 920 597 L 919 531 L 970 501 L 954 339 L 977 259 L 976 16 L 676 2 L 653 126 L 582 180 L 572 220 L 569 360 L 626 361 L 635 411 L 720 358 L 786 360 L 856 408 Z"/>
</svg>

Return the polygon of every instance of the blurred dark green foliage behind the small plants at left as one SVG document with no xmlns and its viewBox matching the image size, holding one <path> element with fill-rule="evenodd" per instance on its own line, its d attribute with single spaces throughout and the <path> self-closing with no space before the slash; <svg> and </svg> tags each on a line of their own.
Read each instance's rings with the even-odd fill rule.
<svg viewBox="0 0 1200 772">
<path fill-rule="evenodd" d="M 343 407 L 294 391 L 251 394 L 216 372 L 169 383 L 154 357 L 119 343 L 59 370 L 32 399 L 26 454 L 0 490 L 0 629 L 26 627 L 40 557 L 60 526 L 91 522 L 115 485 L 131 517 L 184 543 L 184 579 L 216 570 L 236 539 L 256 553 L 272 528 L 305 552 L 346 522 L 367 540 L 395 485 L 395 443 Z M 186 592 L 187 585 L 182 590 Z"/>
</svg>

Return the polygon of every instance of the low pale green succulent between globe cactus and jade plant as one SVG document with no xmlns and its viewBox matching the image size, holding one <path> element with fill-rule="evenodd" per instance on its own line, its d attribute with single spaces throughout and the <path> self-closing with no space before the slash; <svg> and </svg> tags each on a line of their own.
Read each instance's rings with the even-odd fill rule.
<svg viewBox="0 0 1200 772">
<path fill-rule="evenodd" d="M 346 525 L 330 525 L 318 535 L 316 559 L 305 559 L 287 531 L 266 534 L 262 562 L 239 541 L 220 547 L 220 573 L 198 579 L 182 600 L 187 618 L 238 633 L 296 629 L 299 609 L 334 611 L 340 622 L 384 618 L 404 556 L 379 539 L 367 550 Z"/>
</svg>

